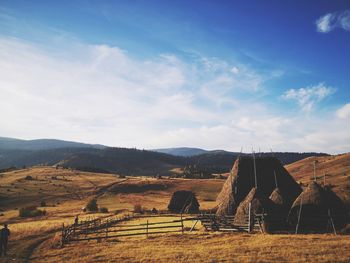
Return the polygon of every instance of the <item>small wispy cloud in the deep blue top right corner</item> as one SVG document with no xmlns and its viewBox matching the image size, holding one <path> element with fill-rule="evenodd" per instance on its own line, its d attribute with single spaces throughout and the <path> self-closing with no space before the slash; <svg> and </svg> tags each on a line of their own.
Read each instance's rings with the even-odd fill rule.
<svg viewBox="0 0 350 263">
<path fill-rule="evenodd" d="M 316 20 L 317 31 L 328 33 L 339 27 L 350 31 L 350 10 L 328 13 Z"/>
</svg>

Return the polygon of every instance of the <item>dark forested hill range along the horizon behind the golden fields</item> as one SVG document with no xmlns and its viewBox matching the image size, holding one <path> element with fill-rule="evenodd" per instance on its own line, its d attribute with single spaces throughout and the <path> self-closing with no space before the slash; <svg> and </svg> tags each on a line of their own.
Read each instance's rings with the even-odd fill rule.
<svg viewBox="0 0 350 263">
<path fill-rule="evenodd" d="M 169 152 L 173 154 L 169 154 Z M 227 173 L 239 154 L 222 150 L 206 151 L 186 147 L 169 148 L 168 153 L 163 153 L 61 140 L 26 141 L 0 138 L 0 169 L 60 164 L 65 167 L 95 172 L 126 175 L 171 175 L 175 168 L 177 171 L 181 171 L 185 166 L 195 165 L 199 171 Z M 258 154 L 264 156 L 272 153 Z M 247 154 L 242 153 L 242 155 Z M 310 156 L 326 156 L 327 154 L 277 152 L 274 155 L 285 165 Z"/>
</svg>

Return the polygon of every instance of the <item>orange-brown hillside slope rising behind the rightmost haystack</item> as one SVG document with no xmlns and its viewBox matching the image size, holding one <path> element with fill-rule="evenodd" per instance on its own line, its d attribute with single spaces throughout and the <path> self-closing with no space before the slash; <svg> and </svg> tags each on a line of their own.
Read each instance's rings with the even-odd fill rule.
<svg viewBox="0 0 350 263">
<path fill-rule="evenodd" d="M 316 161 L 317 182 L 323 184 L 324 175 L 326 175 L 326 184 L 331 184 L 333 190 L 350 203 L 350 153 L 309 157 L 288 164 L 285 168 L 297 181 L 309 183 L 314 180 L 314 161 Z"/>
</svg>

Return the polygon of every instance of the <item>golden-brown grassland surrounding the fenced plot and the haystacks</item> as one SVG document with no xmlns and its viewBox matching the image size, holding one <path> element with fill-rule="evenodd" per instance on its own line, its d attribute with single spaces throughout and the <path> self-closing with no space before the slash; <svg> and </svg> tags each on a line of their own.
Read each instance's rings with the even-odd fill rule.
<svg viewBox="0 0 350 263">
<path fill-rule="evenodd" d="M 336 191 L 346 193 L 349 156 L 327 158 L 320 161 L 319 171 L 322 167 L 328 169 L 329 182 L 335 185 Z M 308 165 L 311 161 L 304 162 L 287 166 L 287 169 L 297 180 L 306 182 L 310 179 Z M 27 176 L 31 179 L 26 179 Z M 184 235 L 161 234 L 148 239 L 138 236 L 57 247 L 62 224 L 71 224 L 75 215 L 84 219 L 122 214 L 133 210 L 135 204 L 164 210 L 176 190 L 194 191 L 200 208 L 210 209 L 216 205 L 215 199 L 223 183 L 220 179 L 119 178 L 114 174 L 53 167 L 2 173 L 0 223 L 9 223 L 12 235 L 9 256 L 1 262 L 29 259 L 32 262 L 348 262 L 350 236 L 207 233 L 199 226 L 196 231 Z M 107 207 L 109 213 L 83 213 L 82 207 L 93 197 L 100 207 Z M 47 211 L 45 216 L 18 217 L 19 208 L 39 206 L 42 201 L 46 206 L 39 209 Z M 140 220 L 136 223 L 142 223 Z M 186 224 L 187 229 L 192 223 Z"/>
</svg>

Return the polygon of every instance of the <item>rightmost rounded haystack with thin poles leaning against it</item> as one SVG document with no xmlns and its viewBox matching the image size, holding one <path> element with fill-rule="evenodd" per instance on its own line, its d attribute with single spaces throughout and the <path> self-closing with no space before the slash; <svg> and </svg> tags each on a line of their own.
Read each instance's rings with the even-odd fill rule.
<svg viewBox="0 0 350 263">
<path fill-rule="evenodd" d="M 308 187 L 294 201 L 288 221 L 296 226 L 299 220 L 300 232 L 327 231 L 330 227 L 329 213 L 336 228 L 344 227 L 347 212 L 341 199 L 329 188 L 323 188 L 316 182 Z"/>
</svg>

